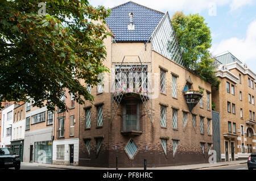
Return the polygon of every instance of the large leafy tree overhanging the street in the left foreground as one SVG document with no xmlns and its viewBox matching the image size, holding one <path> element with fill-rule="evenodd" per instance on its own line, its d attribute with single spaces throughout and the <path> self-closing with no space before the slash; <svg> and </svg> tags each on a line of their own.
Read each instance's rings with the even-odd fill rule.
<svg viewBox="0 0 256 181">
<path fill-rule="evenodd" d="M 40 2 L 0 2 L 0 102 L 30 96 L 33 106 L 68 110 L 60 100 L 64 88 L 80 104 L 92 101 L 80 80 L 95 86 L 97 75 L 108 71 L 102 60 L 109 33 L 92 20 L 105 23 L 110 11 L 86 0 L 45 0 L 41 15 Z"/>
</svg>

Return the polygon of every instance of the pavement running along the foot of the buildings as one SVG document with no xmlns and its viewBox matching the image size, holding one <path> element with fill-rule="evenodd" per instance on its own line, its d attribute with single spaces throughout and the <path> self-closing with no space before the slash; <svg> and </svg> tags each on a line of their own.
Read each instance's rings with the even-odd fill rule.
<svg viewBox="0 0 256 181">
<path fill-rule="evenodd" d="M 217 163 L 201 163 L 195 165 L 181 165 L 181 166 L 168 166 L 168 167 L 147 167 L 147 170 L 193 170 L 193 169 L 203 169 L 207 167 L 217 167 L 217 166 L 226 166 L 226 165 L 237 165 L 247 163 L 247 160 L 242 161 L 232 161 L 232 162 L 217 162 Z M 43 163 L 22 163 L 22 164 L 31 164 L 39 167 L 49 167 L 55 169 L 74 169 L 74 170 L 115 170 L 115 168 L 106 168 L 106 167 L 84 167 L 84 166 L 69 166 L 69 165 L 51 165 Z M 129 168 L 118 168 L 118 170 L 143 170 L 143 167 L 129 167 Z"/>
</svg>

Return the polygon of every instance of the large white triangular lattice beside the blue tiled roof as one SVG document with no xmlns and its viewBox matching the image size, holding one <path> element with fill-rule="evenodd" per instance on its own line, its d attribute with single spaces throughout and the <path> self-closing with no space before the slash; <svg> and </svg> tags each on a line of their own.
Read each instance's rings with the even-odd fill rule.
<svg viewBox="0 0 256 181">
<path fill-rule="evenodd" d="M 152 33 L 151 44 L 152 49 L 156 50 L 156 52 L 183 66 L 183 59 L 168 12 L 166 12 Z"/>
</svg>

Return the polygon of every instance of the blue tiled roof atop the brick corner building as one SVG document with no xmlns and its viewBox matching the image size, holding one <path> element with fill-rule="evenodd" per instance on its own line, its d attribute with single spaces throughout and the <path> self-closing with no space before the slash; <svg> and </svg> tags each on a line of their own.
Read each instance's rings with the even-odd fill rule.
<svg viewBox="0 0 256 181">
<path fill-rule="evenodd" d="M 129 13 L 133 12 L 135 30 L 128 30 L 130 22 Z M 138 5 L 134 2 L 127 2 L 114 7 L 106 23 L 114 33 L 115 41 L 147 41 L 164 13 Z"/>
</svg>

